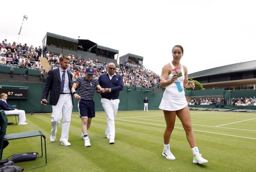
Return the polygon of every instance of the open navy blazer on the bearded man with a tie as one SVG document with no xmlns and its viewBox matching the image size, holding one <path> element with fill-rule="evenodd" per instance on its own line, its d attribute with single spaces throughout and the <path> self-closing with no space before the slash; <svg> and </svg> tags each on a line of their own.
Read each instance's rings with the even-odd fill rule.
<svg viewBox="0 0 256 172">
<path fill-rule="evenodd" d="M 70 89 L 70 94 L 72 97 L 72 103 L 73 102 L 73 95 L 71 93 L 71 88 L 72 88 L 72 74 L 68 72 L 68 78 L 69 78 L 69 89 Z M 60 72 L 59 68 L 49 70 L 47 73 L 47 79 L 46 79 L 46 85 L 44 86 L 44 91 L 42 95 L 42 99 L 47 99 L 48 94 L 50 92 L 50 105 L 56 105 L 59 101 L 59 96 L 60 96 L 60 91 L 61 91 L 61 80 L 60 80 Z"/>
</svg>

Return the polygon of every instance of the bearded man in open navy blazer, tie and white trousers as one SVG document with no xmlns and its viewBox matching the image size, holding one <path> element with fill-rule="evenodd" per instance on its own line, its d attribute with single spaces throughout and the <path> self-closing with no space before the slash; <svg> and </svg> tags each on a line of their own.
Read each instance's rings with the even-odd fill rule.
<svg viewBox="0 0 256 172">
<path fill-rule="evenodd" d="M 50 141 L 54 142 L 57 134 L 57 127 L 62 120 L 62 132 L 60 144 L 70 146 L 69 126 L 73 109 L 73 94 L 71 93 L 72 74 L 68 72 L 69 57 L 61 56 L 59 58 L 60 68 L 49 70 L 42 95 L 42 105 L 46 105 L 48 94 L 50 93 L 49 104 L 52 105 L 52 131 Z M 63 84 L 62 84 L 63 81 Z M 45 102 L 44 102 L 45 101 Z"/>
</svg>

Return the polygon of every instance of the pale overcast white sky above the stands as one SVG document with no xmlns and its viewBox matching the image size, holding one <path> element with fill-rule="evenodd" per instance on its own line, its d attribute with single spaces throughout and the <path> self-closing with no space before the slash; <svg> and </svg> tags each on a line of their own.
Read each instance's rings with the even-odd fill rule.
<svg viewBox="0 0 256 172">
<path fill-rule="evenodd" d="M 0 39 L 38 47 L 47 32 L 80 36 L 118 50 L 118 58 L 142 56 L 159 75 L 172 47 L 181 45 L 180 63 L 191 74 L 256 60 L 255 6 L 255 0 L 27 0 L 3 8 Z"/>
</svg>

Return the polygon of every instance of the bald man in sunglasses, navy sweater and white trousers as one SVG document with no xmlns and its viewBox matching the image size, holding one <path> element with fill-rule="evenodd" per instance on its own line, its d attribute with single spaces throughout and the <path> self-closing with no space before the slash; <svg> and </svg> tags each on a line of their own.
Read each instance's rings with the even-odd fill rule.
<svg viewBox="0 0 256 172">
<path fill-rule="evenodd" d="M 109 143 L 114 143 L 115 138 L 115 126 L 114 120 L 116 118 L 118 104 L 119 104 L 119 91 L 123 90 L 122 76 L 117 74 L 116 65 L 109 63 L 107 73 L 100 75 L 98 82 L 102 88 L 105 89 L 105 93 L 101 94 L 102 107 L 105 110 L 107 117 L 107 127 L 105 130 L 105 136 L 109 139 Z M 97 90 L 97 93 L 100 93 Z"/>
</svg>

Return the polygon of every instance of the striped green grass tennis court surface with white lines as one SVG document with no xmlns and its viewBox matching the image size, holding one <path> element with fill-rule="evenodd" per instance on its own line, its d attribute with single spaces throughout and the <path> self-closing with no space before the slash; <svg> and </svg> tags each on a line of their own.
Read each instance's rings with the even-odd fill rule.
<svg viewBox="0 0 256 172">
<path fill-rule="evenodd" d="M 8 125 L 7 133 L 40 130 L 47 138 L 47 165 L 30 171 L 255 171 L 256 169 L 256 113 L 191 111 L 200 153 L 209 162 L 193 164 L 191 148 L 181 122 L 176 118 L 170 147 L 176 160 L 163 157 L 164 115 L 159 111 L 119 111 L 116 118 L 116 138 L 109 144 L 105 138 L 105 113 L 96 113 L 88 132 L 91 147 L 84 147 L 81 138 L 81 119 L 72 114 L 69 142 L 60 145 L 61 125 L 55 142 L 50 142 L 50 114 L 27 115 L 28 125 Z M 15 121 L 14 116 L 8 121 Z M 3 159 L 12 154 L 41 153 L 39 137 L 9 141 Z M 15 165 L 30 168 L 44 164 L 43 158 L 18 162 Z"/>
</svg>

